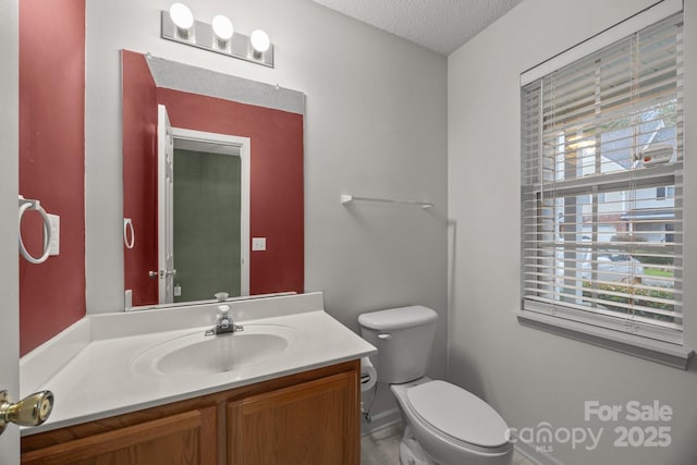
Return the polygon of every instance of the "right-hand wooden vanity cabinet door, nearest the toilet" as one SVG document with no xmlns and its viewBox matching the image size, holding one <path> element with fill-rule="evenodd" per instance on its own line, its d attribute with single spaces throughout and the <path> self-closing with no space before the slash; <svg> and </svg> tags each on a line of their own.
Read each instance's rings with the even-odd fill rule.
<svg viewBox="0 0 697 465">
<path fill-rule="evenodd" d="M 228 463 L 358 465 L 358 415 L 355 371 L 231 402 Z"/>
</svg>

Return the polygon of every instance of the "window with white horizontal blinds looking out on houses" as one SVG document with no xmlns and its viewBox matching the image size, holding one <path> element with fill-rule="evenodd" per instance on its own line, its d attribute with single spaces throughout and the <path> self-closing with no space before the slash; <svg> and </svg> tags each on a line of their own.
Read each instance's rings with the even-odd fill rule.
<svg viewBox="0 0 697 465">
<path fill-rule="evenodd" d="M 682 344 L 682 26 L 524 83 L 524 318 Z"/>
</svg>

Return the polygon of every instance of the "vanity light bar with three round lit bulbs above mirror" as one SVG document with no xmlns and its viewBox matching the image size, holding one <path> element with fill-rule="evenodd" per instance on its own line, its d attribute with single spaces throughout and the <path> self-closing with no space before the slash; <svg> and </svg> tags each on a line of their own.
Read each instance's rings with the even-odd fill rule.
<svg viewBox="0 0 697 465">
<path fill-rule="evenodd" d="M 211 24 L 196 21 L 183 3 L 162 11 L 161 20 L 163 39 L 273 68 L 273 45 L 261 29 L 250 36 L 236 33 L 230 19 L 222 14 L 213 16 Z"/>
</svg>

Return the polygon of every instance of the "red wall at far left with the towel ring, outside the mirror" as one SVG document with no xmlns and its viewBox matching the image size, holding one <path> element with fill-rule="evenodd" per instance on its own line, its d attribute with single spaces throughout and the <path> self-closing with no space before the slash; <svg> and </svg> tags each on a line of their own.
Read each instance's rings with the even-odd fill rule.
<svg viewBox="0 0 697 465">
<path fill-rule="evenodd" d="M 85 316 L 85 0 L 20 1 L 20 194 L 61 217 L 60 255 L 20 260 L 20 353 Z M 36 218 L 23 237 L 40 255 Z"/>
</svg>

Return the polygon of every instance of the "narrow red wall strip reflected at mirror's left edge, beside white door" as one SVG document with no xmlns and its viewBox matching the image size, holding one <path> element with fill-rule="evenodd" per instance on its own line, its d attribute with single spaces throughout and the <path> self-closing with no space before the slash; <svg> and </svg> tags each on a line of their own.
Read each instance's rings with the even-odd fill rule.
<svg viewBox="0 0 697 465">
<path fill-rule="evenodd" d="M 158 281 L 148 271 L 157 260 L 157 99 L 155 81 L 140 53 L 121 52 L 123 115 L 123 216 L 135 232 L 123 247 L 124 284 L 133 305 L 155 304 Z"/>
</svg>

